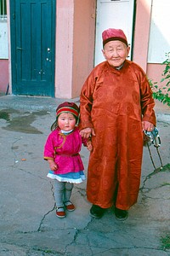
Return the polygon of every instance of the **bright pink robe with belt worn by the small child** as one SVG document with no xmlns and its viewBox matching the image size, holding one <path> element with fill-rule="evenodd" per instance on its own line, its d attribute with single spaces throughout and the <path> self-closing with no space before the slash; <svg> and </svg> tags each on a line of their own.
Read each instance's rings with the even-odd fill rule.
<svg viewBox="0 0 170 256">
<path fill-rule="evenodd" d="M 49 177 L 70 172 L 82 172 L 84 166 L 80 156 L 82 143 L 87 146 L 87 140 L 82 139 L 77 127 L 69 134 L 60 132 L 59 127 L 52 131 L 44 146 L 44 160 L 54 160 L 58 169 L 51 171 Z"/>
</svg>

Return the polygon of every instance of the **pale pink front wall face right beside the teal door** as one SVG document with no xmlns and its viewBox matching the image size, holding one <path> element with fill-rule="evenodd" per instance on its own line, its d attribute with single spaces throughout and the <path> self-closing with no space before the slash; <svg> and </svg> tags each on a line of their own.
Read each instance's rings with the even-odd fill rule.
<svg viewBox="0 0 170 256">
<path fill-rule="evenodd" d="M 70 98 L 73 58 L 73 1 L 58 0 L 56 12 L 55 97 Z"/>
</svg>

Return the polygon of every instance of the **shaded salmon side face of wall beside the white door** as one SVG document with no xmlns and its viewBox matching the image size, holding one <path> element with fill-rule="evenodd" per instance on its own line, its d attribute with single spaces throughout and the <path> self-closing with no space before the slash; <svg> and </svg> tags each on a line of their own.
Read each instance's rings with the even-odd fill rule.
<svg viewBox="0 0 170 256">
<path fill-rule="evenodd" d="M 94 67 L 95 0 L 76 0 L 74 13 L 72 96 L 79 96 L 82 84 Z"/>
</svg>

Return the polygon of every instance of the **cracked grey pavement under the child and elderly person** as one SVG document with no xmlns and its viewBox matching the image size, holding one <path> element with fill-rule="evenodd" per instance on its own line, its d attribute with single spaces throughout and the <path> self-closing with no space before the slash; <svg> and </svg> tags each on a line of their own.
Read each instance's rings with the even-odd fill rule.
<svg viewBox="0 0 170 256">
<path fill-rule="evenodd" d="M 86 182 L 74 187 L 71 200 L 76 211 L 59 219 L 42 155 L 55 108 L 63 101 L 0 97 L 0 256 L 170 255 L 170 108 L 156 102 L 164 167 L 154 171 L 148 148 L 144 148 L 139 201 L 129 210 L 127 220 L 117 221 L 112 209 L 101 219 L 90 218 Z M 71 101 L 78 102 L 78 98 Z M 156 148 L 150 149 L 159 167 Z M 88 150 L 82 148 L 81 155 L 87 170 Z"/>
</svg>

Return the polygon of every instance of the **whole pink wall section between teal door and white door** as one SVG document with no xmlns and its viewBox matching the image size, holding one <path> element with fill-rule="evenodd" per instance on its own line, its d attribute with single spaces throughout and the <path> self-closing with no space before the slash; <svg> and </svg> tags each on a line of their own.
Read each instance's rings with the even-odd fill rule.
<svg viewBox="0 0 170 256">
<path fill-rule="evenodd" d="M 55 97 L 79 96 L 94 65 L 95 0 L 58 0 Z"/>
</svg>

